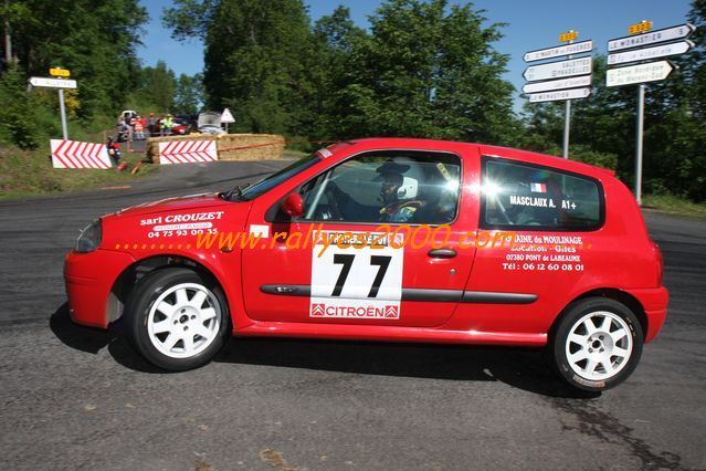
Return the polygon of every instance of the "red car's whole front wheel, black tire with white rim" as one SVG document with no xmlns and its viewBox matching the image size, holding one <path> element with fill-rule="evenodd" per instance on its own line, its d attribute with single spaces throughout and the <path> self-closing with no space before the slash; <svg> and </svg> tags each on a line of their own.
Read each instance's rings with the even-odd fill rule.
<svg viewBox="0 0 706 471">
<path fill-rule="evenodd" d="M 201 308 L 194 307 L 199 292 L 203 293 Z M 178 294 L 191 304 L 180 304 Z M 170 315 L 157 308 L 171 304 L 178 308 L 171 310 Z M 162 321 L 168 321 L 170 331 L 156 333 L 164 328 L 157 326 Z M 125 307 L 124 322 L 129 342 L 145 359 L 162 369 L 183 371 L 202 366 L 221 349 L 230 314 L 222 290 L 210 276 L 190 269 L 168 268 L 140 280 Z M 179 338 L 171 347 L 170 336 Z"/>
</svg>

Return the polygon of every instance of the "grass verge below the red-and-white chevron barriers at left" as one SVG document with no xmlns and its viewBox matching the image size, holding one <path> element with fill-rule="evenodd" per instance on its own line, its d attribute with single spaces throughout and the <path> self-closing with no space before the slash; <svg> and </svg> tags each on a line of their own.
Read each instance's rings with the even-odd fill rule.
<svg viewBox="0 0 706 471">
<path fill-rule="evenodd" d="M 136 175 L 130 170 L 144 154 L 123 154 L 127 169 L 63 169 L 53 168 L 46 150 L 20 150 L 0 146 L 0 199 L 35 195 L 53 195 L 106 186 L 120 186 L 157 171 L 157 165 L 143 164 Z"/>
</svg>

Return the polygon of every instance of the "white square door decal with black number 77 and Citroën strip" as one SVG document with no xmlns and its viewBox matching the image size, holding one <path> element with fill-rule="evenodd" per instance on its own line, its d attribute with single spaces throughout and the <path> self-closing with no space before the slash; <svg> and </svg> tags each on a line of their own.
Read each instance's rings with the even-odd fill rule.
<svg viewBox="0 0 706 471">
<path fill-rule="evenodd" d="M 391 237 L 322 231 L 313 245 L 309 316 L 399 320 L 404 248 L 390 247 Z"/>
</svg>

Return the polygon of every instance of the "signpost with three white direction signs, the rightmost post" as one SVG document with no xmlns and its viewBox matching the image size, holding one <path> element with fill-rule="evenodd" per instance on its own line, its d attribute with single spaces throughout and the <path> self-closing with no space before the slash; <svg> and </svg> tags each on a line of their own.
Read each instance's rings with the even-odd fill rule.
<svg viewBox="0 0 706 471">
<path fill-rule="evenodd" d="M 637 121 L 635 124 L 635 200 L 642 206 L 642 160 L 645 121 L 645 83 L 663 81 L 674 70 L 670 61 L 642 62 L 688 52 L 694 43 L 686 39 L 695 28 L 688 23 L 652 30 L 652 21 L 641 21 L 628 28 L 629 36 L 608 41 L 608 65 L 634 63 L 605 71 L 605 86 L 639 84 Z M 624 51 L 624 52 L 618 52 Z"/>
</svg>

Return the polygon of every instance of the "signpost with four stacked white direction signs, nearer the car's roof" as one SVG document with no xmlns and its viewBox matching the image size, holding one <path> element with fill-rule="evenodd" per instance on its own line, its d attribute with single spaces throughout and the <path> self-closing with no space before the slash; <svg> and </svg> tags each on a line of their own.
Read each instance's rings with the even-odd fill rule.
<svg viewBox="0 0 706 471">
<path fill-rule="evenodd" d="M 587 85 L 591 85 L 593 57 L 573 59 L 573 54 L 590 53 L 593 50 L 593 41 L 588 40 L 575 43 L 573 41 L 578 36 L 578 31 L 570 30 L 559 35 L 559 42 L 563 44 L 529 51 L 524 55 L 525 62 L 567 56 L 563 61 L 529 66 L 523 74 L 525 80 L 530 82 L 523 86 L 523 92 L 529 94 L 530 103 L 562 100 L 566 102 L 562 139 L 563 158 L 569 158 L 571 100 L 586 98 L 591 94 L 591 88 L 587 87 Z"/>
</svg>

